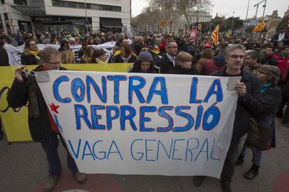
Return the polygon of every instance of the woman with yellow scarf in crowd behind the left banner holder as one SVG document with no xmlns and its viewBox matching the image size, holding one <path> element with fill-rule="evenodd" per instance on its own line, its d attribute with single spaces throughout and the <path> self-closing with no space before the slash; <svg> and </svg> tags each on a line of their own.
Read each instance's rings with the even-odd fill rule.
<svg viewBox="0 0 289 192">
<path fill-rule="evenodd" d="M 21 55 L 21 64 L 22 65 L 38 65 L 40 50 L 37 47 L 37 44 L 32 39 L 27 39 L 25 41 L 24 50 Z"/>
</svg>

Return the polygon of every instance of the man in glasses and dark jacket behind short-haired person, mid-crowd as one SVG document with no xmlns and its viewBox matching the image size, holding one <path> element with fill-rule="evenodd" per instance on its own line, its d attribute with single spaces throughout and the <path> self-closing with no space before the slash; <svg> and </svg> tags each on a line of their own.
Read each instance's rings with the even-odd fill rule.
<svg viewBox="0 0 289 192">
<path fill-rule="evenodd" d="M 161 67 L 161 73 L 168 73 L 168 69 L 175 66 L 177 55 L 177 43 L 175 40 L 168 40 L 165 43 L 165 54 L 156 62 L 156 66 Z"/>
</svg>

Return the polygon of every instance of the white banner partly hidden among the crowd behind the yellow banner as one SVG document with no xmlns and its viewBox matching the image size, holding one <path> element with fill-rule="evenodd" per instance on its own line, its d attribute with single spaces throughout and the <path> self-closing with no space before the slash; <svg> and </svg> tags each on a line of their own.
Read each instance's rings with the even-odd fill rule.
<svg viewBox="0 0 289 192">
<path fill-rule="evenodd" d="M 115 45 L 115 41 L 110 41 L 107 43 L 103 43 L 101 45 L 89 45 L 89 46 L 94 47 L 95 49 L 101 48 L 101 49 L 105 50 L 106 55 L 109 58 L 110 55 L 112 54 L 112 48 L 114 47 L 114 45 Z M 55 47 L 58 50 L 60 47 L 60 45 L 52 45 L 52 44 L 47 44 L 47 45 L 37 44 L 37 46 L 40 50 L 43 50 L 45 47 Z M 70 49 L 73 50 L 73 52 L 75 52 L 75 57 L 79 61 L 80 61 L 80 59 L 78 58 L 78 51 L 80 50 L 81 46 L 82 45 L 71 45 L 70 46 Z M 24 45 L 14 47 L 13 45 L 5 44 L 3 47 L 8 54 L 10 66 L 21 65 L 21 54 L 23 52 Z"/>
</svg>

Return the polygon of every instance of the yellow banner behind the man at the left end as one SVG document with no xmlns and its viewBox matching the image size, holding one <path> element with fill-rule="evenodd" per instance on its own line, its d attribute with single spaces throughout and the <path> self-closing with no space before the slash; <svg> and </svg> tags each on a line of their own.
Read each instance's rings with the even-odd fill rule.
<svg viewBox="0 0 289 192">
<path fill-rule="evenodd" d="M 112 71 L 126 72 L 131 64 L 62 64 L 73 71 Z M 15 78 L 17 66 L 0 67 L 0 115 L 8 142 L 31 140 L 28 128 L 27 107 L 13 109 L 8 107 L 6 96 Z M 36 66 L 27 66 L 33 70 Z"/>
</svg>

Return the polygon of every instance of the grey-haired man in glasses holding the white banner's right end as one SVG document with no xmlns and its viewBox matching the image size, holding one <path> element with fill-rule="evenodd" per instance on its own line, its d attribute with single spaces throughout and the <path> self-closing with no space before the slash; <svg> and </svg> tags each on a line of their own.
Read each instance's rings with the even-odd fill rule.
<svg viewBox="0 0 289 192">
<path fill-rule="evenodd" d="M 230 182 L 234 175 L 235 163 L 246 140 L 249 128 L 249 117 L 251 114 L 262 112 L 262 101 L 260 83 L 257 77 L 242 70 L 245 58 L 245 48 L 242 45 L 230 45 L 225 50 L 225 61 L 227 66 L 212 73 L 213 76 L 242 77 L 237 83 L 236 90 L 239 93 L 235 121 L 233 126 L 232 140 L 225 158 L 221 173 L 221 186 L 223 191 L 231 191 Z M 203 176 L 194 177 L 195 186 L 202 184 Z"/>
</svg>

